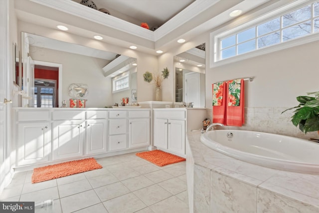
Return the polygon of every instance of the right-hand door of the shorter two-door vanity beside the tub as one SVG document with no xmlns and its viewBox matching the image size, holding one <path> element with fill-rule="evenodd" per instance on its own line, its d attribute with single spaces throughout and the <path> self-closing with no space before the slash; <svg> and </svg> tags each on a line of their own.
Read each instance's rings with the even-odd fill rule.
<svg viewBox="0 0 319 213">
<path fill-rule="evenodd" d="M 185 155 L 185 121 L 168 120 L 168 150 Z"/>
</svg>

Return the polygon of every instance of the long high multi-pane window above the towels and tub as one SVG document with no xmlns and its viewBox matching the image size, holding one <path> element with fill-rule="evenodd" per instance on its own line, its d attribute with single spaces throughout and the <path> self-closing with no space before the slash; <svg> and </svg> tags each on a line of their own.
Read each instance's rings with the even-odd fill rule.
<svg viewBox="0 0 319 213">
<path fill-rule="evenodd" d="M 292 6 L 290 6 L 292 7 Z M 281 12 L 280 14 L 278 14 Z M 239 56 L 319 32 L 319 1 L 265 14 L 214 37 L 215 61 Z M 318 38 L 317 38 L 318 39 Z"/>
</svg>

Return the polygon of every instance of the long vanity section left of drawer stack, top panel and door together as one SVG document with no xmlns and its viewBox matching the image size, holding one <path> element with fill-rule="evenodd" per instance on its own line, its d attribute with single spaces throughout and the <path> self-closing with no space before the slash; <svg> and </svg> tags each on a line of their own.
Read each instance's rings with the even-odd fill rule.
<svg viewBox="0 0 319 213">
<path fill-rule="evenodd" d="M 85 112 L 86 154 L 101 154 L 107 151 L 107 111 Z"/>
</svg>

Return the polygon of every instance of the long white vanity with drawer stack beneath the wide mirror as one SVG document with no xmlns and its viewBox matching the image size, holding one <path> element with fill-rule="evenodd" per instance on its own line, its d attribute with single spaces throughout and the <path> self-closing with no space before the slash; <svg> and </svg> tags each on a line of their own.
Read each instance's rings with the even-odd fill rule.
<svg viewBox="0 0 319 213">
<path fill-rule="evenodd" d="M 150 109 L 13 109 L 16 167 L 147 150 Z"/>
</svg>

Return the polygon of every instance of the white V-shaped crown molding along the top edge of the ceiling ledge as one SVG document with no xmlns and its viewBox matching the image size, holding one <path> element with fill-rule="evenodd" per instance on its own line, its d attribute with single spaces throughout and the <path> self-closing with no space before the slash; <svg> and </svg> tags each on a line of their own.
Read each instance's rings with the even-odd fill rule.
<svg viewBox="0 0 319 213">
<path fill-rule="evenodd" d="M 29 1 L 155 42 L 177 27 L 190 21 L 192 18 L 200 14 L 203 10 L 211 7 L 220 0 L 195 0 L 193 3 L 191 3 L 177 15 L 169 19 L 155 31 L 145 29 L 139 25 L 130 23 L 112 15 L 105 14 L 101 11 L 92 9 L 88 6 L 84 6 L 72 0 Z"/>
</svg>

